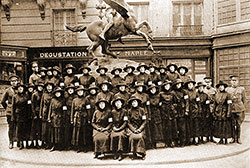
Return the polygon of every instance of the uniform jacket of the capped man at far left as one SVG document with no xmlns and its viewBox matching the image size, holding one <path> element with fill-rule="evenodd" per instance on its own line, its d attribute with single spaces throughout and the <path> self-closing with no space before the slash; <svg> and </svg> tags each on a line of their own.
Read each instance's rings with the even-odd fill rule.
<svg viewBox="0 0 250 168">
<path fill-rule="evenodd" d="M 5 109 L 6 116 L 11 116 L 12 98 L 14 97 L 15 92 L 16 90 L 13 87 L 9 87 L 2 96 L 1 104 Z"/>
</svg>

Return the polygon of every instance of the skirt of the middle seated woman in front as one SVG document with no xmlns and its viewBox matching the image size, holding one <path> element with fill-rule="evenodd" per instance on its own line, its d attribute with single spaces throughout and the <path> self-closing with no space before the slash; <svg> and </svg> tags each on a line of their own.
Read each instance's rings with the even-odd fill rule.
<svg viewBox="0 0 250 168">
<path fill-rule="evenodd" d="M 117 152 L 117 151 L 123 152 L 126 148 L 125 138 L 126 138 L 125 130 L 122 130 L 120 132 L 112 131 L 110 134 L 110 150 L 112 152 Z"/>
</svg>

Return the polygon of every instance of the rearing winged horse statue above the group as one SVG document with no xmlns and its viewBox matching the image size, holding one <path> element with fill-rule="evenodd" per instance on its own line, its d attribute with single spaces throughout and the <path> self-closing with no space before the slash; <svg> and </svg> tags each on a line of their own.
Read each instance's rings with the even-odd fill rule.
<svg viewBox="0 0 250 168">
<path fill-rule="evenodd" d="M 105 2 L 106 1 L 107 0 L 105 0 Z M 115 9 L 119 14 L 113 15 L 113 26 L 110 29 L 108 29 L 108 31 L 105 33 L 105 39 L 100 38 L 100 34 L 102 33 L 105 25 L 107 24 L 102 20 L 93 21 L 88 26 L 66 25 L 66 28 L 73 32 L 83 32 L 86 30 L 88 38 L 92 41 L 92 43 L 88 47 L 88 53 L 94 57 L 94 60 L 96 60 L 96 55 L 94 54 L 94 51 L 99 46 L 102 46 L 102 53 L 104 55 L 110 55 L 113 58 L 117 58 L 114 53 L 109 51 L 108 42 L 109 40 L 119 40 L 122 43 L 121 37 L 127 35 L 137 35 L 143 37 L 147 42 L 148 49 L 154 52 L 153 45 L 150 41 L 153 40 L 153 38 L 150 35 L 152 33 L 152 29 L 149 23 L 147 21 L 142 21 L 141 23 L 137 23 L 137 19 L 135 18 L 135 13 L 133 9 L 131 9 L 129 6 L 128 8 L 124 8 L 121 5 L 118 5 L 116 7 L 117 8 Z M 112 8 L 107 8 L 105 12 L 106 12 L 105 15 L 107 15 L 111 14 L 113 11 Z M 143 26 L 146 26 L 147 33 L 144 33 L 140 30 Z"/>
</svg>

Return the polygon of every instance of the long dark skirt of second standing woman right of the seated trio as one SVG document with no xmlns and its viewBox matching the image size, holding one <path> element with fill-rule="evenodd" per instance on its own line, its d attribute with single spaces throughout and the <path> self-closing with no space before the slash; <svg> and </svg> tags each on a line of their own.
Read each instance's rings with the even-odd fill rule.
<svg viewBox="0 0 250 168">
<path fill-rule="evenodd" d="M 170 141 L 173 141 L 174 139 L 176 139 L 177 133 L 178 133 L 178 128 L 177 128 L 176 119 L 163 120 L 163 135 L 164 135 L 164 140 L 166 143 L 170 143 Z"/>
</svg>

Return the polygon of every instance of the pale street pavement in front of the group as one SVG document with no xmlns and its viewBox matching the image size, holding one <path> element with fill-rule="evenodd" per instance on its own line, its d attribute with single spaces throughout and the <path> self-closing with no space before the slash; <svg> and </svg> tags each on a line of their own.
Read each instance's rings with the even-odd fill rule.
<svg viewBox="0 0 250 168">
<path fill-rule="evenodd" d="M 0 168 L 53 168 L 53 167 L 164 167 L 164 168 L 250 168 L 250 122 L 242 125 L 242 144 L 216 145 L 207 143 L 184 148 L 148 150 L 144 161 L 93 159 L 93 153 L 75 151 L 14 148 L 8 149 L 7 125 L 0 124 Z"/>
</svg>

